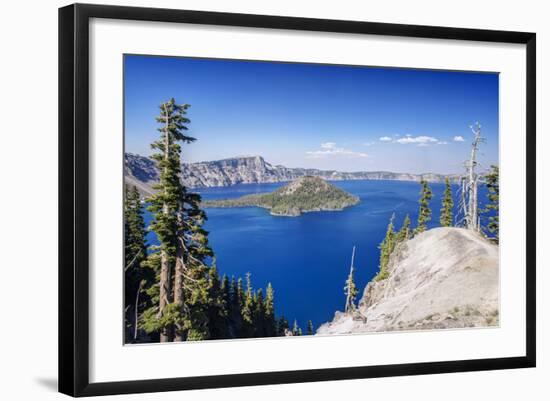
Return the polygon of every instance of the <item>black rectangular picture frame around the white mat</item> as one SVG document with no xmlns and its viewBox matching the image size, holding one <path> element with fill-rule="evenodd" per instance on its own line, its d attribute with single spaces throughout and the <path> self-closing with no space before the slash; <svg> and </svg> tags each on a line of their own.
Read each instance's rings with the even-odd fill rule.
<svg viewBox="0 0 550 401">
<path fill-rule="evenodd" d="M 527 259 L 526 353 L 520 357 L 407 363 L 90 383 L 89 149 L 90 18 L 437 38 L 526 46 Z M 536 35 L 479 29 L 74 4 L 59 9 L 59 391 L 71 396 L 252 386 L 535 366 Z"/>
</svg>

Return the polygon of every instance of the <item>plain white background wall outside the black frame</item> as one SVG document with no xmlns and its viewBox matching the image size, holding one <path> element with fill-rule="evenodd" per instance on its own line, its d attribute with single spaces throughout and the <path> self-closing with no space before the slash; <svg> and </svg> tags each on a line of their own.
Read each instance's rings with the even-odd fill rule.
<svg viewBox="0 0 550 401">
<path fill-rule="evenodd" d="M 439 1 L 133 1 L 117 4 L 264 13 L 380 22 L 464 26 L 536 31 L 538 34 L 538 203 L 548 203 L 543 187 L 550 162 L 542 159 L 550 146 L 544 132 L 548 120 L 549 82 L 545 70 L 550 27 L 544 2 Z M 263 2 L 262 2 L 263 3 Z M 2 287 L 0 327 L 0 395 L 5 399 L 56 399 L 57 372 L 57 7 L 58 1 L 3 5 L 2 98 Z M 456 5 L 455 5 L 456 4 Z M 230 7 L 230 8 L 229 8 Z M 545 26 L 546 25 L 546 26 Z M 126 399 L 281 400 L 298 397 L 447 400 L 547 399 L 550 365 L 544 336 L 550 307 L 544 259 L 549 215 L 538 210 L 538 357 L 528 370 L 384 378 L 346 382 L 293 384 L 257 388 L 133 395 Z M 546 380 L 545 380 L 546 379 Z M 114 397 L 112 397 L 114 398 Z M 119 397 L 121 398 L 121 397 Z"/>
</svg>

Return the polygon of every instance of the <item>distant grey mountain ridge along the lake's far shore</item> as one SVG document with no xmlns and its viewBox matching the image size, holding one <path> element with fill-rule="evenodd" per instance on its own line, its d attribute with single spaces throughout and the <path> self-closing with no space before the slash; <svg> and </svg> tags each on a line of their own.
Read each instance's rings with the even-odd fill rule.
<svg viewBox="0 0 550 401">
<path fill-rule="evenodd" d="M 222 160 L 183 163 L 182 182 L 189 188 L 227 187 L 235 184 L 261 184 L 293 181 L 304 176 L 316 176 L 329 181 L 340 180 L 396 180 L 444 182 L 445 177 L 453 182 L 459 175 L 392 173 L 389 171 L 343 172 L 311 168 L 292 168 L 272 165 L 261 156 L 243 156 Z M 148 157 L 133 153 L 124 155 L 124 180 L 135 185 L 144 194 L 154 192 L 152 185 L 159 174 L 155 162 Z"/>
</svg>

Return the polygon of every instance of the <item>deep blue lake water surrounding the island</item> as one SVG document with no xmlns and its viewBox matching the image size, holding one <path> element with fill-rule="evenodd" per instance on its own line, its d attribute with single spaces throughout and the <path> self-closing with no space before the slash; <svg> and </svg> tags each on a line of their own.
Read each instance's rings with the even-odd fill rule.
<svg viewBox="0 0 550 401">
<path fill-rule="evenodd" d="M 378 271 L 378 245 L 395 212 L 397 229 L 408 213 L 413 225 L 418 217 L 420 184 L 404 181 L 335 181 L 334 185 L 358 196 L 361 202 L 339 212 L 305 213 L 299 217 L 275 217 L 267 210 L 247 208 L 206 209 L 210 244 L 221 274 L 252 275 L 255 288 L 271 282 L 276 312 L 305 329 L 332 319 L 345 303 L 344 282 L 349 273 L 352 247 L 356 246 L 355 278 L 359 297 Z M 241 184 L 201 189 L 203 199 L 236 198 L 270 192 L 285 185 Z M 430 184 L 432 220 L 439 225 L 444 184 Z M 457 187 L 453 187 L 456 193 Z M 480 200 L 486 190 L 480 187 Z M 455 209 L 458 199 L 455 199 Z M 146 216 L 150 220 L 150 216 Z M 155 243 L 154 234 L 149 243 Z"/>
</svg>

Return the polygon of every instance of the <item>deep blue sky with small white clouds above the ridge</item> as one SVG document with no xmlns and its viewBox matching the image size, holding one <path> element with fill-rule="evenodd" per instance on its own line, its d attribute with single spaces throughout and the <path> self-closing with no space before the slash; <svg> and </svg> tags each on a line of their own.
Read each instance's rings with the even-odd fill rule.
<svg viewBox="0 0 550 401">
<path fill-rule="evenodd" d="M 479 121 L 498 164 L 498 74 L 125 56 L 125 150 L 150 155 L 163 101 L 188 103 L 187 162 L 261 155 L 341 171 L 455 173 Z"/>
</svg>

